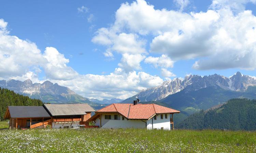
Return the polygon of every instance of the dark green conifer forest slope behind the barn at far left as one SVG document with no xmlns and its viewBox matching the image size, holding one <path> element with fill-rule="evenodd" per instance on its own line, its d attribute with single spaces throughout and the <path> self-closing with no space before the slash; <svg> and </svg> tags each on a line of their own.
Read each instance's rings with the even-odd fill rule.
<svg viewBox="0 0 256 153">
<path fill-rule="evenodd" d="M 28 96 L 16 94 L 14 91 L 0 87 L 0 118 L 3 119 L 7 106 L 42 106 L 38 99 L 30 99 Z"/>
</svg>

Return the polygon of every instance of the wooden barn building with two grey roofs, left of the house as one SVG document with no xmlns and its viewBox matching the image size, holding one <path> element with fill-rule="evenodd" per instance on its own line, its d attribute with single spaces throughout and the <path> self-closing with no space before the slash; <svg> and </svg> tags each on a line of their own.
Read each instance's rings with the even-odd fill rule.
<svg viewBox="0 0 256 153">
<path fill-rule="evenodd" d="M 78 128 L 88 125 L 95 110 L 88 104 L 44 104 L 43 106 L 8 106 L 4 119 L 10 119 L 11 129 Z"/>
</svg>

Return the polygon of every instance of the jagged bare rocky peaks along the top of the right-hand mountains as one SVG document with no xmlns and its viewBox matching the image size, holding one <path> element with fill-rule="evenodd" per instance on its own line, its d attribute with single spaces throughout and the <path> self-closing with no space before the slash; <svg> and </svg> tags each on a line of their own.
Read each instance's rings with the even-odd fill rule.
<svg viewBox="0 0 256 153">
<path fill-rule="evenodd" d="M 220 87 L 231 91 L 246 91 L 248 86 L 256 86 L 256 80 L 248 75 L 237 72 L 232 77 L 213 74 L 201 77 L 200 75 L 189 75 L 181 80 L 175 78 L 163 82 L 158 87 L 148 88 L 138 94 L 124 100 L 122 103 L 130 102 L 138 97 L 141 101 L 156 101 L 166 98 L 185 89 L 186 92 L 196 91 L 206 87 Z"/>
</svg>

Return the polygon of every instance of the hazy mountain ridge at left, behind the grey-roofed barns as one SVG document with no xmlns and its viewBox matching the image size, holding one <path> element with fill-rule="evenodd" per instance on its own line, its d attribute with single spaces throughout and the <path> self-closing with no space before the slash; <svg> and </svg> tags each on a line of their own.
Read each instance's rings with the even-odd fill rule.
<svg viewBox="0 0 256 153">
<path fill-rule="evenodd" d="M 84 98 L 68 87 L 53 84 L 50 81 L 44 83 L 33 83 L 31 80 L 24 82 L 18 80 L 1 80 L 0 87 L 13 90 L 18 94 L 29 96 L 29 98 L 40 99 L 45 103 L 88 103 L 95 109 L 103 107 L 102 104 L 92 102 Z"/>
</svg>

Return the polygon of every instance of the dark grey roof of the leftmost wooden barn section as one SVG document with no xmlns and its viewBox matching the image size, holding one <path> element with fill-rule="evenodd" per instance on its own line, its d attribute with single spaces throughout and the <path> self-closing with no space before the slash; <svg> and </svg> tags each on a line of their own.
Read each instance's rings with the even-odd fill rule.
<svg viewBox="0 0 256 153">
<path fill-rule="evenodd" d="M 51 117 L 43 106 L 8 106 L 11 118 Z"/>
</svg>

